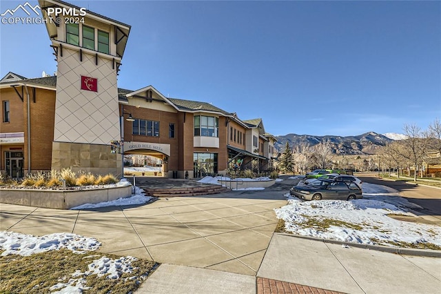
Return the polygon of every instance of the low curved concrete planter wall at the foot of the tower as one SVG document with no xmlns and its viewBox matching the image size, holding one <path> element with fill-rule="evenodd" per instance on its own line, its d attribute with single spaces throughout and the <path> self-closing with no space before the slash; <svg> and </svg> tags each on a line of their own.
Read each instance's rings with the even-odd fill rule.
<svg viewBox="0 0 441 294">
<path fill-rule="evenodd" d="M 132 186 L 85 190 L 0 189 L 0 203 L 70 209 L 81 204 L 96 204 L 132 195 Z"/>
</svg>

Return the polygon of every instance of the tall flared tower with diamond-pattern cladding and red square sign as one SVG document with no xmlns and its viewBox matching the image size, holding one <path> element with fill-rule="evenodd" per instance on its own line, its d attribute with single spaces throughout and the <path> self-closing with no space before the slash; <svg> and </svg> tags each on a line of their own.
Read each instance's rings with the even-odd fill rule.
<svg viewBox="0 0 441 294">
<path fill-rule="evenodd" d="M 39 0 L 57 57 L 52 169 L 121 173 L 116 75 L 130 26 L 58 0 Z"/>
</svg>

